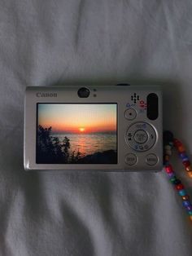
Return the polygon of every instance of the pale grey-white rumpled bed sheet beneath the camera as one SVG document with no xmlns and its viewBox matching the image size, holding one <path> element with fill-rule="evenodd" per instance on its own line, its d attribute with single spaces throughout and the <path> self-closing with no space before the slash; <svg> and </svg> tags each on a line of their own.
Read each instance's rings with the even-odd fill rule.
<svg viewBox="0 0 192 256">
<path fill-rule="evenodd" d="M 26 86 L 160 84 L 164 128 L 192 152 L 192 2 L 0 2 L 0 254 L 190 256 L 164 172 L 24 172 Z M 192 197 L 192 183 L 175 161 Z"/>
</svg>

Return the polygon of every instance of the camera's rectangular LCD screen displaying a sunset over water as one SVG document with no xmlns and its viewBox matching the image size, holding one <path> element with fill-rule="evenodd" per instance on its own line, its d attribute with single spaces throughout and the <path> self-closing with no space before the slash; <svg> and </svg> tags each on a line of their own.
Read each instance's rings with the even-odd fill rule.
<svg viewBox="0 0 192 256">
<path fill-rule="evenodd" d="M 37 164 L 117 164 L 117 104 L 37 104 Z"/>
</svg>

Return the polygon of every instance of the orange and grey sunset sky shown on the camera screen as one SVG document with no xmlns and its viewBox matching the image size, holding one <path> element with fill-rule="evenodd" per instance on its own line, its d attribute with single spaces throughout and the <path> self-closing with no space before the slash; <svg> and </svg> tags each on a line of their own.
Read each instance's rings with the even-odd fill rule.
<svg viewBox="0 0 192 256">
<path fill-rule="evenodd" d="M 116 132 L 116 104 L 38 104 L 38 125 L 55 133 Z"/>
</svg>

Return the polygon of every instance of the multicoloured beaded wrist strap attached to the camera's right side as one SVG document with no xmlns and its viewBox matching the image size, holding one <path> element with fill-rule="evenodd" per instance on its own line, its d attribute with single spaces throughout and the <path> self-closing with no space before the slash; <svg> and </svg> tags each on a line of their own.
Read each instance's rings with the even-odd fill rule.
<svg viewBox="0 0 192 256">
<path fill-rule="evenodd" d="M 178 139 L 174 139 L 172 132 L 164 131 L 164 170 L 168 174 L 168 179 L 177 189 L 182 199 L 182 205 L 187 210 L 190 220 L 192 221 L 192 204 L 190 202 L 190 196 L 187 195 L 183 184 L 180 179 L 177 179 L 175 172 L 172 169 L 172 165 L 169 160 L 172 155 L 173 146 L 177 148 L 179 156 L 181 157 L 182 163 L 185 166 L 185 170 L 190 178 L 192 178 L 192 167 L 190 166 L 189 157 L 187 157 L 183 144 Z"/>
</svg>

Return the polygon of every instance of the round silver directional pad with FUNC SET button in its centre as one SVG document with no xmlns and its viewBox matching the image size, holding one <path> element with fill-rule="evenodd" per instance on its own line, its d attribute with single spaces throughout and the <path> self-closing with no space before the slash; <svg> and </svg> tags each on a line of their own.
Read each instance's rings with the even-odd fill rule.
<svg viewBox="0 0 192 256">
<path fill-rule="evenodd" d="M 135 151 L 144 152 L 153 147 L 156 141 L 155 129 L 146 122 L 136 122 L 129 126 L 125 140 Z"/>
</svg>

